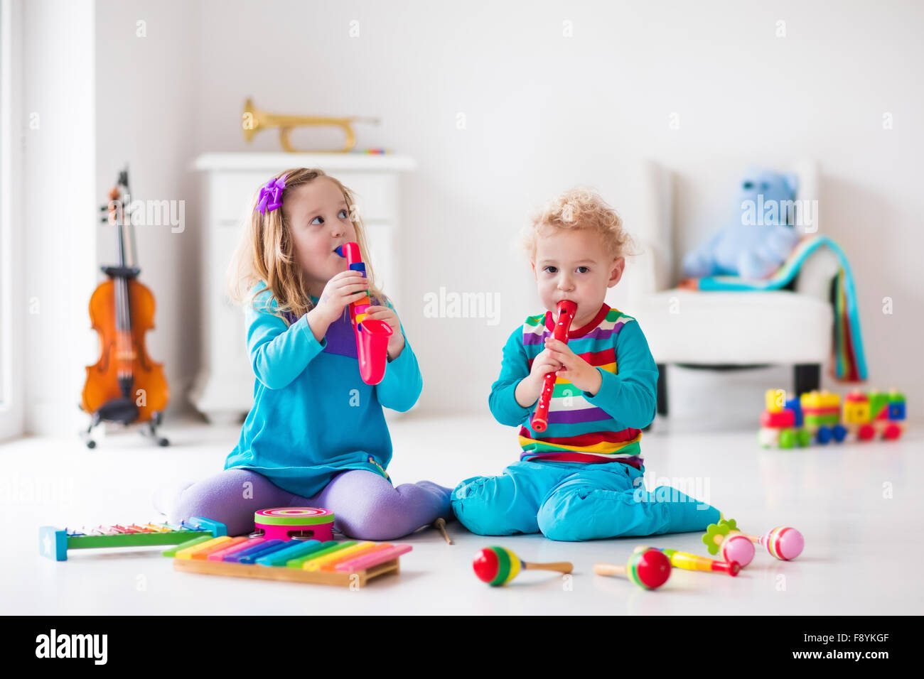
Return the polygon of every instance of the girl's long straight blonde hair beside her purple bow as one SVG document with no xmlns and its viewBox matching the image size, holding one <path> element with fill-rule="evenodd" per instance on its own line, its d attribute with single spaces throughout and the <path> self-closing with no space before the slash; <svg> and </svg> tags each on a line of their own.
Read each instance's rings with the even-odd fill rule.
<svg viewBox="0 0 924 679">
<path fill-rule="evenodd" d="M 318 177 L 327 177 L 340 189 L 346 200 L 350 221 L 356 228 L 356 242 L 359 243 L 359 253 L 366 265 L 369 296 L 373 303 L 384 304 L 387 297 L 375 285 L 375 279 L 372 276 L 369 248 L 366 246 L 366 229 L 356 210 L 353 192 L 333 176 L 317 168 L 298 167 L 285 170 L 274 176 L 272 180 L 281 176 L 286 176 L 286 188 L 283 189 L 282 197 L 283 206 L 286 204 L 286 197 L 290 196 L 295 188 L 314 181 Z M 256 209 L 262 187 L 261 184 L 250 200 L 249 222 L 244 228 L 237 251 L 228 268 L 228 295 L 238 303 L 252 305 L 254 297 L 263 292 L 263 290 L 253 291 L 252 288 L 262 281 L 266 284 L 266 289 L 270 290 L 277 305 L 275 309 L 270 309 L 267 305 L 266 310 L 270 310 L 274 315 L 288 322 L 292 321 L 292 317 L 301 318 L 314 305 L 311 303 L 304 272 L 298 265 L 292 225 L 286 220 L 283 208 L 267 210 L 265 213 Z"/>
</svg>

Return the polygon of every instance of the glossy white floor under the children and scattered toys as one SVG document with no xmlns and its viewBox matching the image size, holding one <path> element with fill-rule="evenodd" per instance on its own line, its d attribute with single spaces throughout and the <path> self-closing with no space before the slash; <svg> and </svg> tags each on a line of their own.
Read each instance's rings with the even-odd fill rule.
<svg viewBox="0 0 924 679">
<path fill-rule="evenodd" d="M 924 472 L 921 434 L 900 442 L 770 451 L 753 430 L 671 433 L 656 423 L 642 443 L 650 484 L 674 483 L 736 518 L 748 532 L 797 527 L 806 549 L 794 562 L 760 551 L 735 578 L 675 569 L 644 591 L 595 576 L 598 561 L 625 563 L 647 543 L 705 554 L 699 534 L 648 539 L 554 542 L 541 535 L 484 538 L 457 522 L 447 545 L 433 530 L 407 538 L 399 576 L 367 588 L 250 581 L 175 573 L 157 548 L 71 552 L 56 563 L 38 552 L 38 527 L 158 518 L 152 490 L 223 467 L 237 428 L 174 423 L 156 448 L 135 430 L 109 433 L 95 450 L 76 439 L 28 438 L 0 445 L 0 612 L 45 614 L 177 613 L 772 613 L 924 612 Z M 395 482 L 431 479 L 453 486 L 496 474 L 517 459 L 514 430 L 490 418 L 398 418 L 391 424 Z M 699 485 L 697 485 L 699 484 Z M 502 544 L 531 562 L 570 561 L 572 577 L 528 572 L 505 588 L 472 573 L 481 547 Z"/>
</svg>

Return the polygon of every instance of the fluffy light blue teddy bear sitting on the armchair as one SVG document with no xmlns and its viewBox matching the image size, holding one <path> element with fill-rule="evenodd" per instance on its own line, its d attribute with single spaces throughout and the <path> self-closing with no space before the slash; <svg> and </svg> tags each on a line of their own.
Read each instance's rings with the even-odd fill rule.
<svg viewBox="0 0 924 679">
<path fill-rule="evenodd" d="M 687 253 L 691 278 L 731 275 L 760 279 L 774 273 L 796 247 L 796 188 L 793 174 L 750 168 L 742 179 L 736 218 Z"/>
</svg>

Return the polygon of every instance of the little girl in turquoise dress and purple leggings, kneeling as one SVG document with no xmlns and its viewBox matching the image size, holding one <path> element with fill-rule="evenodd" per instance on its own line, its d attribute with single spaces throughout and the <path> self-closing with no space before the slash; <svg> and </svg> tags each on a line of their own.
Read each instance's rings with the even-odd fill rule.
<svg viewBox="0 0 924 679">
<path fill-rule="evenodd" d="M 221 521 L 229 535 L 249 533 L 254 511 L 267 507 L 329 509 L 335 531 L 362 540 L 448 520 L 450 489 L 430 481 L 395 488 L 385 472 L 392 442 L 382 406 L 408 410 L 422 382 L 395 309 L 372 278 L 352 192 L 300 168 L 275 176 L 254 202 L 231 277 L 231 297 L 246 304 L 253 407 L 224 471 L 159 491 L 155 507 L 171 521 Z M 335 252 L 351 241 L 367 278 Z M 367 290 L 368 318 L 394 330 L 374 386 L 359 377 L 348 309 Z"/>
</svg>

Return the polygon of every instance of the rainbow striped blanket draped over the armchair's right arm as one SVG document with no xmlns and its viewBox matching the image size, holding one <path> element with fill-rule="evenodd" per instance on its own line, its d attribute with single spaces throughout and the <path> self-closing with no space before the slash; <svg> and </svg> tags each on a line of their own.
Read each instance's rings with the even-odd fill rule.
<svg viewBox="0 0 924 679">
<path fill-rule="evenodd" d="M 755 281 L 737 276 L 707 276 L 691 281 L 686 287 L 699 290 L 778 290 L 787 285 L 803 262 L 820 248 L 831 249 L 840 262 L 834 284 L 833 377 L 841 382 L 861 382 L 867 379 L 867 365 L 860 334 L 854 276 L 844 250 L 828 236 L 803 238 L 770 278 Z"/>
</svg>

